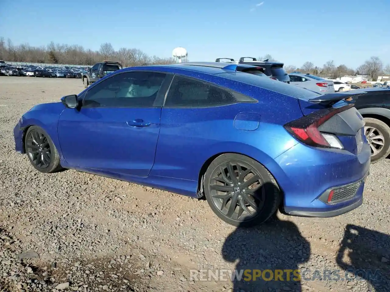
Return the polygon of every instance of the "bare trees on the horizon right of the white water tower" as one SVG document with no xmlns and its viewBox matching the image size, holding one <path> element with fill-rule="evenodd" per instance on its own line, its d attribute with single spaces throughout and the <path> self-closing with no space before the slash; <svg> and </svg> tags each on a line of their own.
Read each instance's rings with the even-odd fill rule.
<svg viewBox="0 0 390 292">
<path fill-rule="evenodd" d="M 259 60 L 266 59 L 269 61 L 277 61 L 269 54 L 259 58 Z M 314 63 L 308 61 L 303 63 L 300 67 L 295 65 L 285 65 L 284 69 L 287 73 L 298 71 L 304 74 L 310 73 L 331 79 L 343 76 L 367 75 L 371 81 L 376 81 L 378 76 L 390 76 L 390 64 L 384 66 L 381 59 L 376 56 L 372 56 L 356 69 L 348 68 L 344 64 L 335 65 L 333 60 L 326 62 L 322 66 L 316 66 Z"/>
</svg>

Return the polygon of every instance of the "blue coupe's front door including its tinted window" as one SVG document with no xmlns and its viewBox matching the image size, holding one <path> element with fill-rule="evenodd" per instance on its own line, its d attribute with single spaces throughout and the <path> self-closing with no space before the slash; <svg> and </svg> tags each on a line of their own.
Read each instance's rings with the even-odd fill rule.
<svg viewBox="0 0 390 292">
<path fill-rule="evenodd" d="M 166 78 L 158 72 L 122 72 L 91 86 L 81 107 L 66 108 L 59 118 L 65 161 L 79 169 L 148 176 L 169 85 L 162 87 Z"/>
</svg>

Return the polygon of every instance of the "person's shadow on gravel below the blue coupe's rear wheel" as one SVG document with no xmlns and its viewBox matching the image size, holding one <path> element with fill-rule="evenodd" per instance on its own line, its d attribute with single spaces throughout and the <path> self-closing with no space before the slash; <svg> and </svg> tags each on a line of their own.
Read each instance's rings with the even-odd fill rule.
<svg viewBox="0 0 390 292">
<path fill-rule="evenodd" d="M 298 227 L 274 215 L 253 228 L 238 227 L 227 237 L 223 258 L 235 262 L 234 292 L 301 291 L 298 265 L 310 257 L 310 243 Z M 255 279 L 254 279 L 255 278 Z"/>
</svg>

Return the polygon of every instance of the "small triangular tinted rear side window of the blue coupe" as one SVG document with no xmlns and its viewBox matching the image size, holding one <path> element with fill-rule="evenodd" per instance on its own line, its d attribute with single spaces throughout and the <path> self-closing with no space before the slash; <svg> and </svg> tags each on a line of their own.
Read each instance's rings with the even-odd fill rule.
<svg viewBox="0 0 390 292">
<path fill-rule="evenodd" d="M 254 77 L 258 78 L 257 76 Z M 209 107 L 224 106 L 237 102 L 255 103 L 257 100 L 225 90 L 211 83 L 176 75 L 169 88 L 164 106 Z"/>
</svg>

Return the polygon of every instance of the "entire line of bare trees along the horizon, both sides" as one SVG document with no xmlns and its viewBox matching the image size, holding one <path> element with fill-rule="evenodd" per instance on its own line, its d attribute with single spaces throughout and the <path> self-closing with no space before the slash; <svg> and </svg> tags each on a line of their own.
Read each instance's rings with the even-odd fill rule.
<svg viewBox="0 0 390 292">
<path fill-rule="evenodd" d="M 277 61 L 271 55 L 265 55 L 258 60 Z M 85 49 L 79 45 L 55 44 L 50 42 L 47 46 L 33 47 L 29 44 L 15 46 L 11 39 L 5 40 L 0 37 L 0 60 L 8 62 L 32 62 L 32 63 L 54 63 L 54 64 L 74 64 L 74 65 L 94 65 L 102 60 L 117 60 L 124 67 L 170 64 L 172 58 L 159 58 L 158 56 L 148 56 L 143 51 L 136 48 L 121 47 L 115 51 L 109 43 L 103 43 L 98 51 Z M 342 76 L 367 75 L 372 81 L 376 81 L 378 76 L 390 76 L 390 65 L 383 65 L 383 62 L 376 56 L 366 60 L 358 68 L 348 68 L 344 64 L 335 65 L 330 60 L 322 66 L 316 66 L 312 62 L 305 62 L 300 67 L 295 65 L 285 65 L 288 73 L 299 71 L 311 73 L 326 78 L 338 78 Z"/>
</svg>

